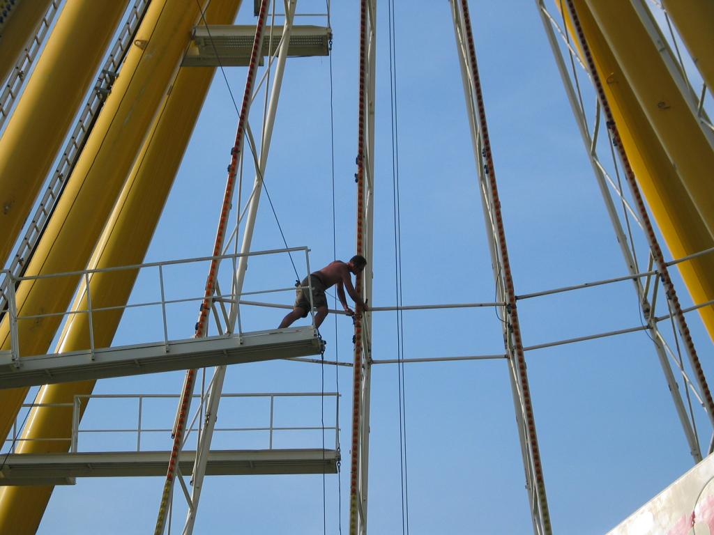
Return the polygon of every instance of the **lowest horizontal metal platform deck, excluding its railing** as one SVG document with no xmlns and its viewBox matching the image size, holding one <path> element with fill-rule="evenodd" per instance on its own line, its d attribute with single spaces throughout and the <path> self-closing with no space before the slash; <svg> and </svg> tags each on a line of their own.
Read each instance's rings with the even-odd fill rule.
<svg viewBox="0 0 714 535">
<path fill-rule="evenodd" d="M 196 452 L 183 451 L 178 466 L 190 475 Z M 334 449 L 216 450 L 208 454 L 206 474 L 336 474 Z M 0 470 L 0 486 L 66 485 L 76 477 L 165 476 L 169 452 L 11 454 Z"/>
</svg>

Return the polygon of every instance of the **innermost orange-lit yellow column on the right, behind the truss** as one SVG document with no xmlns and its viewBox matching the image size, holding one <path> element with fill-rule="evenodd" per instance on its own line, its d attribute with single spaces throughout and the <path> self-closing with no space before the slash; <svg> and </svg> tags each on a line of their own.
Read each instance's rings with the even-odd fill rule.
<svg viewBox="0 0 714 535">
<path fill-rule="evenodd" d="M 559 3 L 556 0 L 556 4 Z M 714 247 L 714 239 L 680 182 L 677 170 L 650 126 L 615 56 L 595 24 L 590 9 L 584 0 L 574 0 L 574 4 L 598 75 L 605 82 L 605 95 L 630 165 L 670 253 L 674 258 L 680 258 Z M 566 24 L 573 36 L 569 18 L 566 18 Z M 689 260 L 679 264 L 678 268 L 694 302 L 714 300 L 714 255 Z M 702 308 L 700 315 L 714 340 L 714 308 Z"/>
</svg>

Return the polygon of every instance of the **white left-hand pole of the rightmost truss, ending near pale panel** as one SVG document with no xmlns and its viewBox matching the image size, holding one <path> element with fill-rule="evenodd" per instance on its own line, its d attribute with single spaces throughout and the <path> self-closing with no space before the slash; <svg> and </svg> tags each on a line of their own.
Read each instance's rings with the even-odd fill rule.
<svg viewBox="0 0 714 535">
<path fill-rule="evenodd" d="M 605 208 L 608 211 L 608 216 L 610 218 L 610 223 L 613 225 L 613 230 L 615 231 L 615 236 L 620 245 L 620 252 L 625 259 L 625 264 L 628 267 L 630 275 L 637 274 L 637 267 L 635 266 L 635 260 L 630 247 L 628 246 L 627 236 L 623 230 L 622 224 L 620 223 L 620 218 L 618 217 L 615 204 L 608 190 L 608 186 L 605 183 L 605 178 L 603 176 L 603 171 L 600 168 L 597 153 L 593 146 L 593 138 L 590 136 L 588 127 L 585 123 L 585 117 L 583 116 L 582 110 L 578 104 L 578 97 L 575 93 L 575 88 L 573 88 L 573 83 L 570 81 L 570 76 L 568 75 L 568 68 L 565 66 L 565 61 L 563 56 L 560 54 L 560 47 L 558 46 L 558 39 L 553 32 L 553 28 L 550 25 L 550 19 L 546 15 L 547 9 L 543 0 L 535 0 L 536 6 L 538 6 L 538 14 L 540 14 L 540 20 L 543 22 L 543 28 L 545 29 L 545 35 L 548 37 L 548 43 L 553 51 L 553 58 L 555 58 L 555 63 L 558 66 L 558 72 L 560 73 L 560 78 L 563 81 L 563 87 L 565 88 L 565 93 L 568 95 L 568 101 L 570 102 L 570 108 L 573 110 L 573 116 L 575 117 L 575 123 L 578 125 L 578 130 L 580 131 L 580 137 L 583 139 L 583 145 L 585 150 L 588 152 L 588 157 L 590 160 L 590 165 L 593 167 L 593 174 L 595 175 L 595 180 L 597 180 L 598 186 L 600 188 L 600 194 L 603 197 L 603 202 L 605 203 Z M 564 31 L 567 31 L 565 29 Z M 663 345 L 658 342 L 659 332 L 657 323 L 653 321 L 653 315 L 650 315 L 649 311 L 651 309 L 650 303 L 648 302 L 647 295 L 645 295 L 642 284 L 639 279 L 633 279 L 633 284 L 635 285 L 635 292 L 637 292 L 640 299 L 640 306 L 643 309 L 643 314 L 648 318 L 648 330 L 650 330 L 650 338 L 653 340 L 655 345 L 655 352 L 657 353 L 658 360 L 660 361 L 660 367 L 665 375 L 665 380 L 667 381 L 670 395 L 672 396 L 672 401 L 675 405 L 675 410 L 682 425 L 685 438 L 687 440 L 690 454 L 696 463 L 702 460 L 702 455 L 700 452 L 700 445 L 698 444 L 697 437 L 693 430 L 693 425 L 690 422 L 689 416 L 685 409 L 683 399 L 680 394 L 679 384 L 675 379 L 672 367 L 667 358 L 667 354 L 664 350 Z"/>
</svg>

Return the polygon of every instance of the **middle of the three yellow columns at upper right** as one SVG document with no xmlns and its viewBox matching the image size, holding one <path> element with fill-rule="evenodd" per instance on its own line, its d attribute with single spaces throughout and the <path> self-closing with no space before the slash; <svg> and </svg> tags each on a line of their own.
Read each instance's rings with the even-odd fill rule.
<svg viewBox="0 0 714 535">
<path fill-rule="evenodd" d="M 645 116 L 714 236 L 714 151 L 629 1 L 586 0 Z"/>
</svg>

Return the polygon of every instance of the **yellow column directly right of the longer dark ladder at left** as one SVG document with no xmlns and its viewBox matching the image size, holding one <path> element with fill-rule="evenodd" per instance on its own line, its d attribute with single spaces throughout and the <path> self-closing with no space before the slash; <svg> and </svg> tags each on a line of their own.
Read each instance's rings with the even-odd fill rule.
<svg viewBox="0 0 714 535">
<path fill-rule="evenodd" d="M 151 121 L 174 78 L 198 19 L 195 1 L 152 0 L 114 88 L 82 151 L 26 275 L 83 270 L 119 197 Z M 24 281 L 17 290 L 19 352 L 44 354 L 59 317 L 23 316 L 64 312 L 79 277 Z M 1 347 L 10 347 L 8 318 L 0 324 Z M 26 395 L 0 391 L 0 435 L 5 437 Z"/>
</svg>

